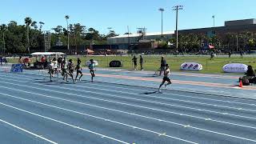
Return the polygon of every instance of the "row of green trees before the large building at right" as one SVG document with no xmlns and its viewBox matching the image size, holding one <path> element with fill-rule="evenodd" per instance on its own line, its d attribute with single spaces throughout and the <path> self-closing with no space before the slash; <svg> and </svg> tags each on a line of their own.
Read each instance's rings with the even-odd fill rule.
<svg viewBox="0 0 256 144">
<path fill-rule="evenodd" d="M 164 39 L 164 38 L 163 38 Z M 161 41 L 158 39 L 158 41 Z M 159 42 L 159 47 L 167 48 L 168 42 L 176 46 L 176 38 Z M 203 45 L 209 44 L 216 49 L 226 51 L 255 50 L 256 34 L 250 31 L 226 33 L 226 34 L 179 34 L 178 50 L 198 51 Z"/>
</svg>

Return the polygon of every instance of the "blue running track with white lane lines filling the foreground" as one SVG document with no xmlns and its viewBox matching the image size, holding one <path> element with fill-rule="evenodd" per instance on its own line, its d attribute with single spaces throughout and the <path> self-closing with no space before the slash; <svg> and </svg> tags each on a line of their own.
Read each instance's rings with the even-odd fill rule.
<svg viewBox="0 0 256 144">
<path fill-rule="evenodd" d="M 256 143 L 244 98 L 1 73 L 1 143 Z"/>
</svg>

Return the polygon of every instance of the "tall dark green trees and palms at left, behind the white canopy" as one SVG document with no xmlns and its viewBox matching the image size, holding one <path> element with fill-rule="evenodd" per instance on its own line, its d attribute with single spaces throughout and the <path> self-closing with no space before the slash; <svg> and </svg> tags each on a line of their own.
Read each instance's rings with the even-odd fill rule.
<svg viewBox="0 0 256 144">
<path fill-rule="evenodd" d="M 24 24 L 18 25 L 15 21 L 0 25 L 0 53 L 1 54 L 25 54 L 30 50 L 44 50 L 44 22 L 35 22 L 32 18 L 24 18 Z M 98 30 L 80 23 L 69 26 L 56 26 L 50 33 L 51 46 L 66 46 L 69 35 L 70 46 L 88 46 L 91 44 L 106 44 L 106 38 L 118 36 L 114 30 L 108 34 L 100 34 Z"/>
</svg>

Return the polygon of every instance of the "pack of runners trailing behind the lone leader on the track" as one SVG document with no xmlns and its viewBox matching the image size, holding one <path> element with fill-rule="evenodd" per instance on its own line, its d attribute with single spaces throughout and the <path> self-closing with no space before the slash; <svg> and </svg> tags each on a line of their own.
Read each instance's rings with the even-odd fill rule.
<svg viewBox="0 0 256 144">
<path fill-rule="evenodd" d="M 78 63 L 75 66 L 72 59 L 69 59 L 69 61 L 66 61 L 66 58 L 53 58 L 50 60 L 49 65 L 49 74 L 50 74 L 50 82 L 52 82 L 52 77 L 54 74 L 58 74 L 59 72 L 62 74 L 63 80 L 66 78 L 66 82 L 68 82 L 68 77 L 72 79 L 74 83 L 76 83 L 78 80 L 81 81 L 81 78 L 83 76 L 82 74 L 82 66 L 81 66 L 81 60 L 78 58 Z M 90 59 L 90 64 L 88 66 L 91 74 L 91 82 L 94 82 L 94 71 L 96 70 L 96 66 L 93 59 Z M 76 70 L 76 76 L 74 78 L 74 71 Z M 80 77 L 78 78 L 78 75 L 80 74 Z"/>
</svg>

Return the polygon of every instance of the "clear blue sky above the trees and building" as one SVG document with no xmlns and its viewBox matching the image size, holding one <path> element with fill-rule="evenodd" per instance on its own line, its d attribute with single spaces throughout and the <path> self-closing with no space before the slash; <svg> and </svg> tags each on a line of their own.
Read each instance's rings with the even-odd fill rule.
<svg viewBox="0 0 256 144">
<path fill-rule="evenodd" d="M 176 14 L 173 6 L 182 5 L 178 13 L 178 29 L 224 26 L 228 20 L 256 18 L 255 0 L 2 0 L 0 24 L 16 21 L 24 24 L 30 17 L 44 22 L 42 30 L 69 23 L 81 23 L 107 34 L 111 27 L 117 34 L 131 33 L 145 27 L 147 32 L 161 31 L 161 12 L 164 8 L 163 31 L 175 30 Z"/>
</svg>

